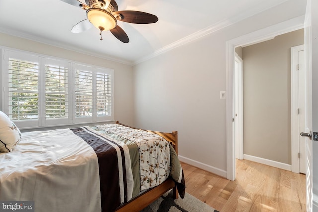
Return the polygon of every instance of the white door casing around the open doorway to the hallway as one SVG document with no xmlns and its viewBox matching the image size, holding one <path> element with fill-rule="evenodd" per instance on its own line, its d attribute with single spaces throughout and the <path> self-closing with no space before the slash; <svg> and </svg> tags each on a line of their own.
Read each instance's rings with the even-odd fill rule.
<svg viewBox="0 0 318 212">
<path fill-rule="evenodd" d="M 299 16 L 282 23 L 243 35 L 226 42 L 226 152 L 227 179 L 235 180 L 235 145 L 234 145 L 234 53 L 235 48 L 251 43 L 258 43 L 277 35 L 304 28 L 305 16 Z"/>
</svg>

